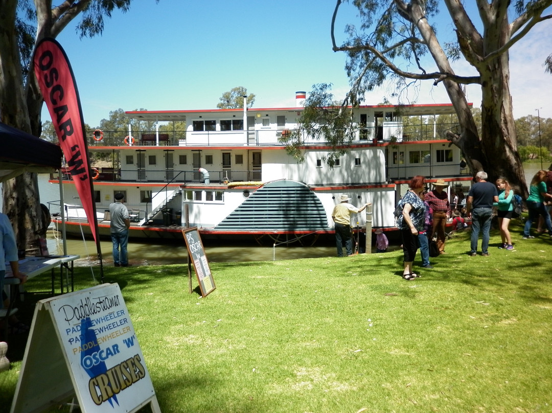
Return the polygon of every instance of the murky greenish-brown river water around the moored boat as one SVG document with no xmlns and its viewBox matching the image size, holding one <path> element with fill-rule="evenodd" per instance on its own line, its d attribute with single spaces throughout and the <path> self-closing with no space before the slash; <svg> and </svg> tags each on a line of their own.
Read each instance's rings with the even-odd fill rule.
<svg viewBox="0 0 552 413">
<path fill-rule="evenodd" d="M 540 164 L 532 163 L 525 166 L 526 180 L 528 184 L 540 169 Z M 47 205 L 48 202 L 57 202 L 59 204 L 60 194 L 57 184 L 48 183 L 47 174 L 39 174 L 40 202 Z M 1 185 L 1 184 L 0 184 Z M 2 197 L 0 197 L 0 208 Z M 62 254 L 63 243 L 60 234 L 49 229 L 47 233 L 47 244 L 50 254 Z M 294 258 L 318 258 L 335 257 L 336 247 L 333 243 L 326 242 L 323 245 L 314 247 L 299 245 L 277 245 L 277 246 L 259 246 L 257 244 L 249 245 L 213 245 L 204 242 L 205 253 L 211 262 L 238 262 L 238 261 L 272 261 L 272 260 L 291 260 Z M 230 242 L 229 242 L 230 244 Z M 112 261 L 112 244 L 110 241 L 100 241 L 100 248 L 105 262 Z M 398 245 L 390 246 L 390 250 L 399 248 Z M 165 241 L 163 243 L 151 243 L 132 240 L 129 242 L 129 261 L 135 265 L 157 265 L 157 264 L 178 264 L 187 262 L 187 248 L 182 241 Z M 77 254 L 83 258 L 94 260 L 97 257 L 96 247 L 93 241 L 84 241 L 68 237 L 67 252 Z M 81 262 L 86 262 L 86 259 Z"/>
</svg>

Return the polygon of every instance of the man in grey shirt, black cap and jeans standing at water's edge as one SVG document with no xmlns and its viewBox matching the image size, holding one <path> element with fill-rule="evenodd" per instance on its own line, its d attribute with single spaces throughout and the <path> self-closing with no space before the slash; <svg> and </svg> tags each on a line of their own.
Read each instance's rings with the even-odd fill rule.
<svg viewBox="0 0 552 413">
<path fill-rule="evenodd" d="M 124 205 L 125 195 L 115 194 L 115 202 L 109 205 L 111 217 L 111 241 L 113 242 L 113 263 L 115 267 L 128 267 L 129 258 L 126 246 L 129 243 L 130 217 L 129 210 Z M 120 248 L 120 254 L 119 254 Z"/>
</svg>

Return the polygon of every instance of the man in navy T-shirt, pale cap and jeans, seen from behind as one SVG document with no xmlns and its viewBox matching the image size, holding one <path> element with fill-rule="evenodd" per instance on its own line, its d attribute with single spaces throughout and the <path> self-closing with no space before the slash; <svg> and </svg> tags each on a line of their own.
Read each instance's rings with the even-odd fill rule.
<svg viewBox="0 0 552 413">
<path fill-rule="evenodd" d="M 466 210 L 471 218 L 471 251 L 470 256 L 477 256 L 477 239 L 479 231 L 483 232 L 481 255 L 489 256 L 489 237 L 492 220 L 492 204 L 498 202 L 498 191 L 495 184 L 487 182 L 487 173 L 475 174 L 475 183 L 471 186 L 466 200 Z"/>
</svg>

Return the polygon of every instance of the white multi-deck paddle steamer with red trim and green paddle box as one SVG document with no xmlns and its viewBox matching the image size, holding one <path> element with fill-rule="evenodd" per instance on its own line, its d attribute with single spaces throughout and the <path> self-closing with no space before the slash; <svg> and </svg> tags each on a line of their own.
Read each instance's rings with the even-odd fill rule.
<svg viewBox="0 0 552 413">
<path fill-rule="evenodd" d="M 455 190 L 468 192 L 471 175 L 444 136 L 458 125 L 437 123 L 439 115 L 453 118 L 452 105 L 355 108 L 353 140 L 330 168 L 325 142 L 303 136 L 304 162 L 280 142 L 297 127 L 304 100 L 298 92 L 289 108 L 129 111 L 135 125 L 185 122 L 186 130 L 91 131 L 89 152 L 111 162 L 93 169 L 100 235 L 109 235 L 109 204 L 118 192 L 125 194 L 131 237 L 181 239 L 182 227 L 197 226 L 204 239 L 309 243 L 333 234 L 331 212 L 341 194 L 358 207 L 371 203 L 371 214 L 352 217 L 353 227 L 391 231 L 394 206 L 411 177 L 444 179 L 451 198 Z M 66 205 L 67 233 L 89 234 L 71 177 L 63 174 L 62 183 L 65 199 L 76 204 Z M 53 221 L 61 224 L 59 216 Z"/>
</svg>

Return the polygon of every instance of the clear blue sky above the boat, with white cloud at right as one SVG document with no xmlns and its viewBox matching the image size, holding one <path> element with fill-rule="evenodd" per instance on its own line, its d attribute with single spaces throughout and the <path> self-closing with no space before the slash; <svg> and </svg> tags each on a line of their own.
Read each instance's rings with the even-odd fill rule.
<svg viewBox="0 0 552 413">
<path fill-rule="evenodd" d="M 293 107 L 295 92 L 315 83 L 333 83 L 341 98 L 348 91 L 346 56 L 333 52 L 330 24 L 335 0 L 135 0 L 128 13 L 105 20 L 102 36 L 79 39 L 75 25 L 57 38 L 75 72 L 84 121 L 92 127 L 124 110 L 215 108 L 222 93 L 236 86 L 256 95 L 254 107 Z M 336 22 L 337 43 L 347 23 L 358 25 L 351 4 Z M 452 33 L 443 14 L 440 33 Z M 474 15 L 473 20 L 479 19 Z M 510 53 L 514 117 L 552 118 L 552 76 L 542 63 L 552 52 L 552 20 L 537 25 Z M 430 66 L 429 70 L 433 70 Z M 473 75 L 465 63 L 460 75 Z M 417 103 L 449 102 L 442 86 L 425 82 Z M 389 96 L 372 92 L 367 104 Z M 481 93 L 468 87 L 479 107 Z M 44 108 L 43 119 L 49 119 Z"/>
</svg>

